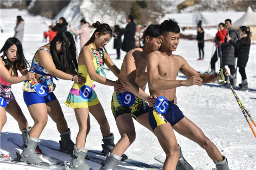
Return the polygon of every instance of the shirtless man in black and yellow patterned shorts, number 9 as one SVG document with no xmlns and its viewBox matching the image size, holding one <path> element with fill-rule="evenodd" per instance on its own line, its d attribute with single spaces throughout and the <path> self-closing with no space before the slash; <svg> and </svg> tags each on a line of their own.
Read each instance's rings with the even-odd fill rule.
<svg viewBox="0 0 256 170">
<path fill-rule="evenodd" d="M 154 106 L 156 96 L 149 96 L 144 92 L 146 84 L 148 83 L 146 59 L 149 53 L 160 48 L 159 26 L 160 25 L 149 25 L 145 31 L 146 42 L 144 46 L 132 49 L 124 57 L 118 79 L 120 83 L 125 86 L 125 90 L 122 91 L 123 94 L 124 92 L 132 92 L 132 95 L 135 94 L 135 102 L 130 107 L 125 106 L 121 103 L 121 93 L 114 92 L 111 107 L 121 139 L 111 150 L 111 153 L 107 155 L 100 170 L 114 170 L 122 159 L 122 154 L 134 142 L 136 134 L 132 117 L 141 125 L 152 131 L 148 122 L 147 102 L 150 106 Z M 177 167 L 178 166 L 180 170 L 193 170 L 192 166 L 183 158 L 182 153 L 180 161 L 177 164 Z"/>
</svg>

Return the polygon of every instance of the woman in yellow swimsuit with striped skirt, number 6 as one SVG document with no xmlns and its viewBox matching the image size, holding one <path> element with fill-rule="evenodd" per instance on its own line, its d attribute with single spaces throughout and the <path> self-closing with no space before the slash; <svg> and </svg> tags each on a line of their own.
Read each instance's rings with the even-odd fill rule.
<svg viewBox="0 0 256 170">
<path fill-rule="evenodd" d="M 92 27 L 96 28 L 96 30 L 78 56 L 78 73 L 82 73 L 82 76 L 86 78 L 86 83 L 77 84 L 75 82 L 65 102 L 66 106 L 74 108 L 79 126 L 76 145 L 69 165 L 70 168 L 76 167 L 76 169 L 90 168 L 84 161 L 87 154 L 84 146 L 90 131 L 89 111 L 100 124 L 104 143 L 102 151 L 107 153 L 114 147 L 114 135 L 110 133 L 108 120 L 94 90 L 94 81 L 108 86 L 115 86 L 115 89 L 119 92 L 124 90 L 124 86 L 118 80 L 107 79 L 104 70 L 102 70 L 104 64 L 106 64 L 116 77 L 119 76 L 120 70 L 112 62 L 104 48 L 112 38 L 112 29 L 108 24 L 100 23 L 99 21 L 93 23 Z M 87 91 L 84 89 L 87 89 Z"/>
</svg>

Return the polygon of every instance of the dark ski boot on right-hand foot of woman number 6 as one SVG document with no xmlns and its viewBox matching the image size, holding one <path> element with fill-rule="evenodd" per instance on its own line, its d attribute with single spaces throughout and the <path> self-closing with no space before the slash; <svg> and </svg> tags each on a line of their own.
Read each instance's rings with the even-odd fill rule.
<svg viewBox="0 0 256 170">
<path fill-rule="evenodd" d="M 107 156 L 108 152 L 110 152 L 115 146 L 115 144 L 114 144 L 114 134 L 110 133 L 109 136 L 103 137 L 102 141 L 103 141 L 103 144 L 101 145 L 102 146 L 102 152 L 101 153 L 103 153 Z M 123 154 L 122 155 L 122 160 L 126 160 L 126 159 L 128 159 L 128 156 L 126 156 L 126 154 Z"/>
</svg>

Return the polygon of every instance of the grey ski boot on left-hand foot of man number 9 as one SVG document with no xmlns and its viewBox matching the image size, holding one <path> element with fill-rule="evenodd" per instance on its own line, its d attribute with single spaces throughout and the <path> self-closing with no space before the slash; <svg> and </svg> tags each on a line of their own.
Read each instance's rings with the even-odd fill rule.
<svg viewBox="0 0 256 170">
<path fill-rule="evenodd" d="M 121 156 L 108 152 L 106 159 L 101 163 L 99 170 L 115 170 L 121 159 Z"/>
</svg>

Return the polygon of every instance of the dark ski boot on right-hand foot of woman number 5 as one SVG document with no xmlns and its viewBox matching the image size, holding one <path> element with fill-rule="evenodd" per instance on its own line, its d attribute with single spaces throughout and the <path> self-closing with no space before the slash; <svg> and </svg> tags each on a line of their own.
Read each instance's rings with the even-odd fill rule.
<svg viewBox="0 0 256 170">
<path fill-rule="evenodd" d="M 70 138 L 70 129 L 68 128 L 68 131 L 60 133 L 60 138 L 60 148 L 72 154 L 75 144 Z"/>
</svg>

